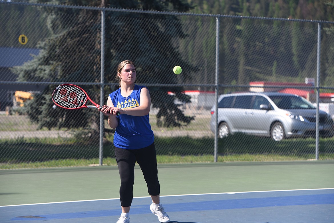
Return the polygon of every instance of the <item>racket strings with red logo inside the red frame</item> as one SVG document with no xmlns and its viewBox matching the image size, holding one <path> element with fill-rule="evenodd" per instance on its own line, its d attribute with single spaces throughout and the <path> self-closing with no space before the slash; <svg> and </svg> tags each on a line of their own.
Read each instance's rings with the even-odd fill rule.
<svg viewBox="0 0 334 223">
<path fill-rule="evenodd" d="M 76 86 L 63 85 L 55 90 L 53 100 L 64 108 L 79 108 L 86 104 L 87 95 Z"/>
</svg>

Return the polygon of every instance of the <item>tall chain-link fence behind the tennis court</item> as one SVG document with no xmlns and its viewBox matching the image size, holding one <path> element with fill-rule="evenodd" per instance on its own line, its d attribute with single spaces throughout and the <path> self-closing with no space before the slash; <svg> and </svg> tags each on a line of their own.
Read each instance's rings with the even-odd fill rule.
<svg viewBox="0 0 334 223">
<path fill-rule="evenodd" d="M 1 169 L 116 164 L 106 117 L 55 107 L 51 94 L 72 83 L 106 104 L 123 60 L 150 90 L 158 163 L 334 159 L 318 109 L 307 120 L 314 134 L 280 141 L 270 127 L 220 138 L 221 122 L 210 125 L 230 92 L 298 94 L 332 119 L 333 22 L 13 2 L 0 10 Z"/>
</svg>

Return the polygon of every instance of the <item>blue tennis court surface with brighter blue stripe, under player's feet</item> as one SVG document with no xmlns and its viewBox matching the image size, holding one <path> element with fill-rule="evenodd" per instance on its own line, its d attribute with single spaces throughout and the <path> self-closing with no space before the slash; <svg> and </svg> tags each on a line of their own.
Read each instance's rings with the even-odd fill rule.
<svg viewBox="0 0 334 223">
<path fill-rule="evenodd" d="M 334 222 L 334 188 L 161 196 L 175 223 Z M 131 223 L 159 222 L 149 197 L 134 198 Z M 0 222 L 117 222 L 119 199 L 0 206 Z"/>
</svg>

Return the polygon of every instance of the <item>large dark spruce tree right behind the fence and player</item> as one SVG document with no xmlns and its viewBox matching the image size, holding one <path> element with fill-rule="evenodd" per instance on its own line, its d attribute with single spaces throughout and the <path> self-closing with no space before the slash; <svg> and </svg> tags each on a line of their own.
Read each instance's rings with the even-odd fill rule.
<svg viewBox="0 0 334 223">
<path fill-rule="evenodd" d="M 35 1 L 44 3 L 44 1 Z M 49 3 L 60 4 L 54 0 Z M 66 1 L 68 5 L 105 6 L 126 9 L 156 11 L 188 11 L 191 6 L 182 0 L 132 0 L 132 1 Z M 52 36 L 40 42 L 38 56 L 29 63 L 15 67 L 13 72 L 20 81 L 46 81 L 62 83 L 100 82 L 101 61 L 101 12 L 99 10 L 78 10 L 74 8 L 41 7 L 47 19 Z M 149 22 L 149 24 L 147 24 Z M 132 60 L 137 67 L 137 83 L 175 84 L 175 75 L 169 69 L 183 64 L 189 69 L 182 75 L 186 78 L 195 67 L 183 61 L 173 46 L 172 40 L 184 38 L 180 21 L 171 15 L 148 15 L 143 13 L 124 13 L 106 10 L 105 77 L 106 82 L 115 83 L 116 66 L 122 60 Z M 166 71 L 168 69 L 168 71 Z M 98 132 L 96 123 L 99 113 L 89 109 L 75 111 L 54 110 L 50 95 L 56 86 L 48 86 L 28 104 L 28 115 L 39 127 L 83 127 L 91 125 L 94 136 Z M 116 90 L 116 84 L 106 88 L 107 95 Z M 93 99 L 99 102 L 100 86 L 83 87 Z M 180 126 L 189 124 L 193 117 L 185 116 L 174 104 L 175 92 L 181 101 L 190 98 L 181 94 L 181 87 L 149 87 L 152 104 L 159 108 L 159 124 Z M 34 102 L 42 105 L 34 106 Z M 77 121 L 80 117 L 80 121 Z"/>
</svg>

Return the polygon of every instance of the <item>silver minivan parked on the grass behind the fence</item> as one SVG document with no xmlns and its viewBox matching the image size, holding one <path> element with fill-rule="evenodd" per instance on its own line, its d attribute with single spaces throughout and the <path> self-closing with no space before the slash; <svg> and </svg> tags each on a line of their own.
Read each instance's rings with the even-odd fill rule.
<svg viewBox="0 0 334 223">
<path fill-rule="evenodd" d="M 211 108 L 211 131 L 215 130 L 215 105 Z M 319 111 L 321 137 L 333 137 L 331 116 Z M 220 138 L 242 132 L 268 136 L 276 141 L 290 137 L 315 137 L 316 108 L 305 98 L 278 92 L 247 92 L 220 95 L 218 134 Z"/>
</svg>

